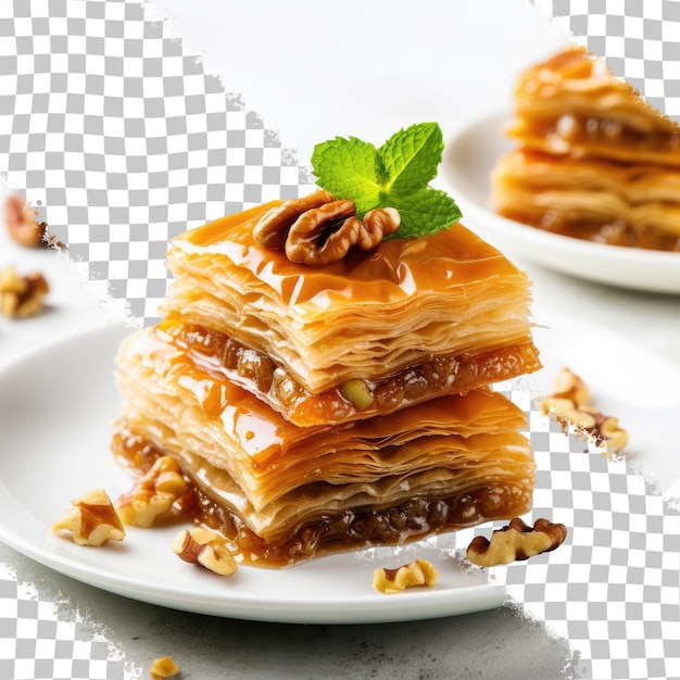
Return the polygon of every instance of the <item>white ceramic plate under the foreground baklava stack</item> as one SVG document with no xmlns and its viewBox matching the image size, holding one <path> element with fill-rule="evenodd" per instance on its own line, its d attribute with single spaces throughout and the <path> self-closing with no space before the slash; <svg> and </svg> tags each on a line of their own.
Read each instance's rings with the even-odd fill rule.
<svg viewBox="0 0 680 680">
<path fill-rule="evenodd" d="M 566 363 L 588 376 L 599 406 L 629 430 L 633 462 L 680 479 L 680 367 L 625 336 L 566 316 L 536 329 L 545 369 L 530 376 L 549 389 Z M 231 618 L 295 624 L 366 624 L 452 616 L 501 606 L 505 590 L 487 570 L 466 569 L 455 534 L 401 549 L 325 557 L 292 569 L 243 567 L 224 579 L 179 561 L 169 550 L 178 527 L 129 529 L 123 543 L 75 545 L 50 527 L 71 499 L 103 487 L 112 498 L 130 478 L 109 452 L 118 415 L 112 357 L 125 332 L 102 328 L 33 351 L 0 368 L 0 540 L 83 582 L 142 602 Z M 634 365 L 619 368 L 635 356 Z M 676 487 L 678 484 L 676 483 Z M 373 570 L 416 556 L 440 571 L 433 589 L 383 595 Z"/>
</svg>

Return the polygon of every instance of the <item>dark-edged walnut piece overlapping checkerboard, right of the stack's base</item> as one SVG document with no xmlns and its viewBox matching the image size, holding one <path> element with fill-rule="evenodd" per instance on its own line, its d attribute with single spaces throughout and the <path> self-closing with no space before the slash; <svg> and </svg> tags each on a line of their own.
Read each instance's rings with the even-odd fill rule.
<svg viewBox="0 0 680 680">
<path fill-rule="evenodd" d="M 483 536 L 475 537 L 467 546 L 467 558 L 480 567 L 494 567 L 555 550 L 566 538 L 564 525 L 541 518 L 532 528 L 515 517 L 509 525 L 496 529 L 491 541 Z"/>
</svg>

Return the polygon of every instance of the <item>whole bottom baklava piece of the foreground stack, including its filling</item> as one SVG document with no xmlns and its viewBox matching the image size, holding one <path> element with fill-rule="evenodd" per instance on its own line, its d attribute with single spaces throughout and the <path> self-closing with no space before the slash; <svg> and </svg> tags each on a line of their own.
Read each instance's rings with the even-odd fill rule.
<svg viewBox="0 0 680 680">
<path fill-rule="evenodd" d="M 298 440 L 289 430 L 290 446 L 279 445 L 278 457 L 264 465 L 256 452 L 237 451 L 226 430 L 216 455 L 221 427 L 198 416 L 189 394 L 178 392 L 174 401 L 185 401 L 178 408 L 155 391 L 142 400 L 143 411 L 131 405 L 138 399 L 117 425 L 114 453 L 139 473 L 159 455 L 174 456 L 190 482 L 181 506 L 225 533 L 244 562 L 287 566 L 507 519 L 531 507 L 536 464 L 516 431 L 524 415 L 498 393 L 440 398 L 429 412 L 414 406 L 399 418 L 312 428 Z M 254 486 L 230 474 L 245 468 Z"/>
</svg>

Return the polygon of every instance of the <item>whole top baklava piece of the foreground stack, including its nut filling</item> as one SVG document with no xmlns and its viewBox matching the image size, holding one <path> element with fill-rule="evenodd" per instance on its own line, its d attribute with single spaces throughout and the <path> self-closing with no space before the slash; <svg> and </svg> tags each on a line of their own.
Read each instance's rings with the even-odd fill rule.
<svg viewBox="0 0 680 680">
<path fill-rule="evenodd" d="M 539 366 L 524 273 L 459 224 L 325 266 L 253 229 L 277 204 L 176 238 L 155 333 L 299 426 L 385 415 Z"/>
</svg>

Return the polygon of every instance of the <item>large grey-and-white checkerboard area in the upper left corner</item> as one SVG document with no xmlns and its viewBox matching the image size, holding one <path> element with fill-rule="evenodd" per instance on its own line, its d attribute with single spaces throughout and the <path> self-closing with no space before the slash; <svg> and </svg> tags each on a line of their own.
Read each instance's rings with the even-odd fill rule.
<svg viewBox="0 0 680 680">
<path fill-rule="evenodd" d="M 0 159 L 83 277 L 142 324 L 169 238 L 308 182 L 238 95 L 123 0 L 0 4 Z"/>
</svg>

